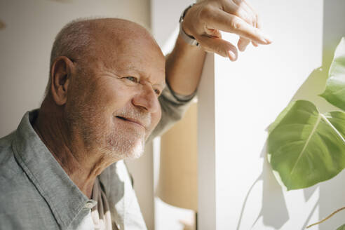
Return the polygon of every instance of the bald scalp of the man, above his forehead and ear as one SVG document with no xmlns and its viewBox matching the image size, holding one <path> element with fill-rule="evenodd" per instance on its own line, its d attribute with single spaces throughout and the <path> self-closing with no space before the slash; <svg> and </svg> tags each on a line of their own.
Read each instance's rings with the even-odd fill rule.
<svg viewBox="0 0 345 230">
<path fill-rule="evenodd" d="M 80 60 L 88 64 L 102 58 L 113 60 L 114 52 L 121 53 L 128 45 L 136 43 L 137 49 L 149 46 L 161 53 L 161 49 L 147 29 L 135 22 L 119 18 L 78 19 L 69 22 L 55 37 L 50 54 L 50 71 L 59 56 Z M 163 53 L 161 53 L 163 57 Z M 46 94 L 50 89 L 49 78 Z"/>
</svg>

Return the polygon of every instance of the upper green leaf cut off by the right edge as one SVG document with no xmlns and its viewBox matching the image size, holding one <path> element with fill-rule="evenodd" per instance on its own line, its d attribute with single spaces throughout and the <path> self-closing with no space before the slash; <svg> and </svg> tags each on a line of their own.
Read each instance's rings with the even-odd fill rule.
<svg viewBox="0 0 345 230">
<path fill-rule="evenodd" d="M 334 53 L 326 89 L 321 97 L 336 107 L 345 110 L 345 37 L 343 37 Z"/>
</svg>

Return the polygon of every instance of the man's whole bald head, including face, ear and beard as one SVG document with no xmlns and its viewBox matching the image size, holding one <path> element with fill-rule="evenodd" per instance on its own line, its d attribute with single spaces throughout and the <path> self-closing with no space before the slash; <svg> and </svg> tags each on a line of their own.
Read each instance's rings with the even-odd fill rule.
<svg viewBox="0 0 345 230">
<path fill-rule="evenodd" d="M 115 18 L 77 20 L 53 44 L 38 120 L 55 121 L 79 149 L 113 160 L 139 156 L 161 119 L 164 86 L 165 57 L 144 27 Z"/>
</svg>

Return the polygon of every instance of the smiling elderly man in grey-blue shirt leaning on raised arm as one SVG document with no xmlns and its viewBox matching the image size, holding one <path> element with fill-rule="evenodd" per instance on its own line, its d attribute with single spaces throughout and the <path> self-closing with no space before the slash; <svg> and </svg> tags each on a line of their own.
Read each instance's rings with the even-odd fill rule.
<svg viewBox="0 0 345 230">
<path fill-rule="evenodd" d="M 204 1 L 181 21 L 166 60 L 127 20 L 78 20 L 57 34 L 40 109 L 0 140 L 1 229 L 146 229 L 123 159 L 181 118 L 204 50 L 236 60 L 218 29 L 241 36 L 239 50 L 271 42 L 241 0 Z"/>
</svg>

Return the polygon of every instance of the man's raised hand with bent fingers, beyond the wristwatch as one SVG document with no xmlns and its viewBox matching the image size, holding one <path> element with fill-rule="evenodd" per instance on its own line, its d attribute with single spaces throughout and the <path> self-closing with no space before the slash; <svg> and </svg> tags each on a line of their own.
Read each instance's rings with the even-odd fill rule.
<svg viewBox="0 0 345 230">
<path fill-rule="evenodd" d="M 235 61 L 236 46 L 222 39 L 219 30 L 240 36 L 238 50 L 269 44 L 271 39 L 261 31 L 259 16 L 245 0 L 207 0 L 189 8 L 182 22 L 184 32 L 198 41 L 201 47 Z"/>
</svg>

